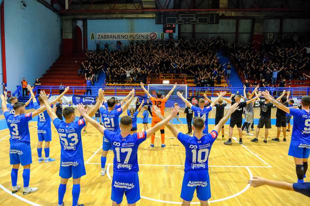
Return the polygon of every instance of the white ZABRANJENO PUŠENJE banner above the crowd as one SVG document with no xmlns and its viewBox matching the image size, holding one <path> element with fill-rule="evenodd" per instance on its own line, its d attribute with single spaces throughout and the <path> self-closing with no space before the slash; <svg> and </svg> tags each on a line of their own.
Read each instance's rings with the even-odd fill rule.
<svg viewBox="0 0 310 206">
<path fill-rule="evenodd" d="M 157 32 L 141 33 L 90 33 L 90 40 L 155 40 Z"/>
</svg>

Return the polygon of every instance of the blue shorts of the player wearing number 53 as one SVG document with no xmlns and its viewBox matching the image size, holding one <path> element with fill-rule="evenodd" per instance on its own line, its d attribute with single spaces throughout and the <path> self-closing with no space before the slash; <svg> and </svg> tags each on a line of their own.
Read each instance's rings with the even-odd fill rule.
<svg viewBox="0 0 310 206">
<path fill-rule="evenodd" d="M 78 179 L 86 175 L 84 159 L 65 160 L 60 159 L 59 176 L 64 179 Z"/>
</svg>

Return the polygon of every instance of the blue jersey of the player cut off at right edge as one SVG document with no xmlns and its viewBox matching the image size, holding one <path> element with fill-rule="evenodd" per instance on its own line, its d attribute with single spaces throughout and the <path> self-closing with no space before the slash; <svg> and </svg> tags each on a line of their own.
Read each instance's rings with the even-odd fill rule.
<svg viewBox="0 0 310 206">
<path fill-rule="evenodd" d="M 292 140 L 310 144 L 310 112 L 304 109 L 290 108 L 294 116 Z"/>
</svg>

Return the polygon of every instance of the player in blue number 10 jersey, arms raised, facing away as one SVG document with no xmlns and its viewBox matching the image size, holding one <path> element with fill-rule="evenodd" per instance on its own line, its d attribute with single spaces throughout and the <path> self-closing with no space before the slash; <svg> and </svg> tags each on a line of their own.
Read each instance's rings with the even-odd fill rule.
<svg viewBox="0 0 310 206">
<path fill-rule="evenodd" d="M 224 117 L 208 134 L 203 134 L 205 125 L 204 120 L 201 117 L 194 117 L 192 126 L 194 136 L 183 134 L 173 127 L 172 124 L 166 124 L 172 134 L 185 147 L 185 169 L 181 190 L 181 198 L 183 199 L 182 206 L 190 205 L 195 190 L 197 193 L 197 198 L 200 201 L 200 205 L 208 205 L 208 200 L 211 198 L 210 179 L 208 174 L 208 158 L 210 150 L 222 126 L 237 108 L 238 103 L 230 106 Z M 158 108 L 155 108 L 154 111 L 161 119 L 164 118 L 160 114 Z"/>
</svg>

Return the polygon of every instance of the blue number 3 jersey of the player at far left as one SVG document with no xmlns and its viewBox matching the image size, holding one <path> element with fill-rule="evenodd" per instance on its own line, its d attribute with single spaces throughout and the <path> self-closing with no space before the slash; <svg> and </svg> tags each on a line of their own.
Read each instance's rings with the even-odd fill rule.
<svg viewBox="0 0 310 206">
<path fill-rule="evenodd" d="M 28 122 L 32 119 L 32 113 L 14 116 L 9 111 L 4 112 L 4 117 L 9 129 L 11 143 L 26 142 L 30 143 Z"/>
</svg>

